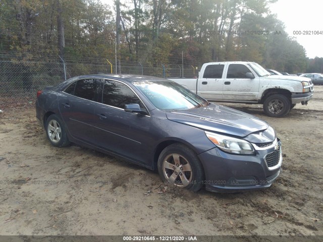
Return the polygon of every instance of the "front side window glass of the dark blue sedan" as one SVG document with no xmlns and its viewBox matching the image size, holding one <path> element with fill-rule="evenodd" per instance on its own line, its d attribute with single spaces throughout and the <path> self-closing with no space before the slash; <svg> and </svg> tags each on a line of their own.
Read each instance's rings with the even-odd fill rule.
<svg viewBox="0 0 323 242">
<path fill-rule="evenodd" d="M 137 103 L 145 109 L 141 100 L 127 85 L 111 80 L 104 81 L 102 103 L 122 109 L 125 104 Z"/>
</svg>

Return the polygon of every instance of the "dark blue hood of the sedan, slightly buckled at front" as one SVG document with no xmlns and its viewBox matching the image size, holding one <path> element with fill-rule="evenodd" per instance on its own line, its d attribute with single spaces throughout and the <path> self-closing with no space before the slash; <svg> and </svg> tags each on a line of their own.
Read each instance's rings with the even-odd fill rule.
<svg viewBox="0 0 323 242">
<path fill-rule="evenodd" d="M 166 115 L 169 120 L 177 123 L 238 137 L 264 131 L 269 127 L 255 116 L 213 103 L 207 107 L 167 112 Z"/>
</svg>

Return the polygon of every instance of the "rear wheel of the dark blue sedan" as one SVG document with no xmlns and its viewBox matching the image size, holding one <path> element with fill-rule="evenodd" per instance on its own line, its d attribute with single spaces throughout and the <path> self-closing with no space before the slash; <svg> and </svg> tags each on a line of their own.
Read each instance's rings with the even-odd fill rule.
<svg viewBox="0 0 323 242">
<path fill-rule="evenodd" d="M 47 118 L 45 128 L 47 138 L 53 146 L 64 147 L 70 144 L 63 122 L 56 114 Z"/>
</svg>

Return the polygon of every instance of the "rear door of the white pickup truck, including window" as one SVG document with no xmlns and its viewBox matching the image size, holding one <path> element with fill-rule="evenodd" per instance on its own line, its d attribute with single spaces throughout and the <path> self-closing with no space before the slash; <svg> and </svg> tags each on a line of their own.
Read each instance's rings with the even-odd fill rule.
<svg viewBox="0 0 323 242">
<path fill-rule="evenodd" d="M 197 80 L 197 94 L 207 100 L 223 100 L 224 64 L 207 65 Z"/>
</svg>

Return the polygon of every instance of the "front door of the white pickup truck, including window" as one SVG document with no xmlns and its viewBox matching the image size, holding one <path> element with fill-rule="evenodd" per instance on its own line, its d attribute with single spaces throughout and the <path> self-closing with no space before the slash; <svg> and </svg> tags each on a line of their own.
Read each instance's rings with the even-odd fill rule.
<svg viewBox="0 0 323 242">
<path fill-rule="evenodd" d="M 256 102 L 259 92 L 259 77 L 250 79 L 246 73 L 252 73 L 243 64 L 230 64 L 223 85 L 224 101 L 250 101 Z"/>
</svg>

